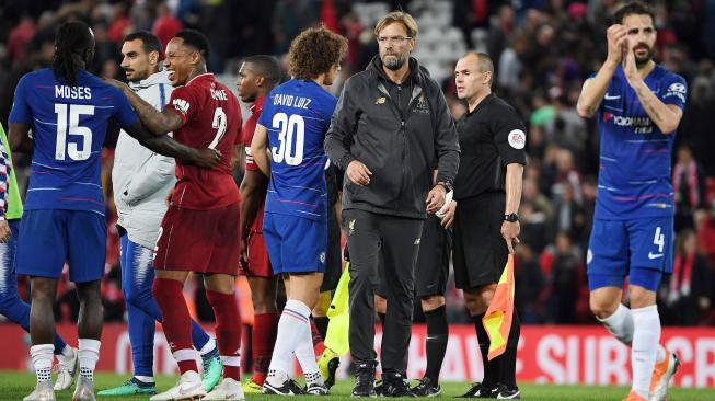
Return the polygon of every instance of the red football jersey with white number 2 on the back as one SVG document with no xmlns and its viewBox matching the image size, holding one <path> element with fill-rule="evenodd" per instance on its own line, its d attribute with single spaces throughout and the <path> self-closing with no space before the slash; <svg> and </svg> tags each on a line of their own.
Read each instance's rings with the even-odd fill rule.
<svg viewBox="0 0 715 401">
<path fill-rule="evenodd" d="M 176 160 L 176 187 L 172 203 L 178 207 L 211 210 L 240 198 L 231 174 L 233 144 L 241 133 L 239 101 L 212 73 L 201 73 L 176 88 L 166 107 L 184 122 L 174 139 L 194 148 L 212 148 L 222 154 L 212 169 L 201 169 Z"/>
</svg>

